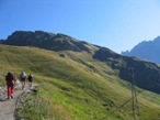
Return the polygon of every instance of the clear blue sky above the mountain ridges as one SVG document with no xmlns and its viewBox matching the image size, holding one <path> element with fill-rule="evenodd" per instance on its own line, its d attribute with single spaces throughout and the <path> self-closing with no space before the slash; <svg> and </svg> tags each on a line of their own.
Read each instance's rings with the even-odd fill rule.
<svg viewBox="0 0 160 120">
<path fill-rule="evenodd" d="M 117 53 L 160 35 L 160 0 L 0 0 L 0 39 L 64 33 Z"/>
</svg>

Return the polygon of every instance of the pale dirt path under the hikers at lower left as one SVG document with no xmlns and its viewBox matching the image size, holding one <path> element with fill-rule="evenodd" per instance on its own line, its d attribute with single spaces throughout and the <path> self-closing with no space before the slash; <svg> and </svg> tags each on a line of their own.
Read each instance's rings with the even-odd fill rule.
<svg viewBox="0 0 160 120">
<path fill-rule="evenodd" d="M 19 96 L 28 90 L 30 87 L 25 87 L 24 90 L 21 90 L 21 85 L 15 87 L 14 98 L 8 99 L 7 87 L 0 87 L 0 120 L 15 120 L 14 112 L 16 100 Z"/>
</svg>

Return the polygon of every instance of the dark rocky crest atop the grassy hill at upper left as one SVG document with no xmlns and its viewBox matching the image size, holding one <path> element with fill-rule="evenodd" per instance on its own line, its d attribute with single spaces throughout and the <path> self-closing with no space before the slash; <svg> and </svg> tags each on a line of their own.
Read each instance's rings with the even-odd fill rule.
<svg viewBox="0 0 160 120">
<path fill-rule="evenodd" d="M 43 31 L 15 31 L 3 44 L 19 46 L 37 46 L 52 51 L 89 51 L 84 42 L 80 42 L 65 34 L 54 34 Z"/>
</svg>

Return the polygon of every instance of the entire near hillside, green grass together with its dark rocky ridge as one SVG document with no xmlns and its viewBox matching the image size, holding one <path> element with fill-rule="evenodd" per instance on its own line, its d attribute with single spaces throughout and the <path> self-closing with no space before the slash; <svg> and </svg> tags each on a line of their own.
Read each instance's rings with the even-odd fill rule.
<svg viewBox="0 0 160 120">
<path fill-rule="evenodd" d="M 65 34 L 14 32 L 1 41 L 0 69 L 1 86 L 23 70 L 38 84 L 20 120 L 160 120 L 158 64 Z"/>
</svg>

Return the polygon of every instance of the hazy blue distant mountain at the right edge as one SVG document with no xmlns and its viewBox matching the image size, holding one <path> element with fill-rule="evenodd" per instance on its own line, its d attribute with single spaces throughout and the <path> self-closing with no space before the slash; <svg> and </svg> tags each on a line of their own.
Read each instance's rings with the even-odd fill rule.
<svg viewBox="0 0 160 120">
<path fill-rule="evenodd" d="M 136 56 L 160 64 L 160 36 L 153 41 L 144 41 L 136 45 L 130 52 L 122 52 L 122 55 Z"/>
</svg>

